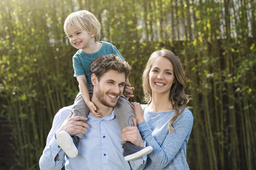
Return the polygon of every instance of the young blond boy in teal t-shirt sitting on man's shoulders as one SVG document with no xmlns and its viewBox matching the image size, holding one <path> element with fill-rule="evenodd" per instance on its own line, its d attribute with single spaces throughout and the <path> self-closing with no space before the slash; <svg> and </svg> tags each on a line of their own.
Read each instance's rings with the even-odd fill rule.
<svg viewBox="0 0 256 170">
<path fill-rule="evenodd" d="M 78 49 L 73 56 L 74 77 L 79 82 L 80 92 L 75 98 L 72 108 L 72 117 L 87 117 L 89 112 L 96 118 L 100 117 L 94 103 L 91 102 L 93 85 L 89 69 L 93 59 L 98 55 L 117 54 L 122 60 L 122 55 L 116 47 L 104 41 L 98 41 L 100 38 L 100 23 L 97 18 L 87 10 L 80 10 L 71 13 L 64 23 L 65 34 L 69 37 L 70 44 Z M 104 66 L 103 66 L 104 67 Z M 127 80 L 128 81 L 128 80 Z M 108 94 L 106 97 L 113 98 L 114 94 Z M 118 101 L 115 114 L 119 124 L 120 131 L 126 126 L 133 126 L 134 118 L 130 103 L 122 95 Z M 57 135 L 57 143 L 70 158 L 78 154 L 78 144 L 83 138 L 83 134 L 69 135 L 66 131 L 61 131 Z M 92 139 L 93 140 L 93 139 Z M 134 160 L 152 151 L 152 147 L 137 147 L 130 142 L 123 144 L 125 161 Z"/>
</svg>

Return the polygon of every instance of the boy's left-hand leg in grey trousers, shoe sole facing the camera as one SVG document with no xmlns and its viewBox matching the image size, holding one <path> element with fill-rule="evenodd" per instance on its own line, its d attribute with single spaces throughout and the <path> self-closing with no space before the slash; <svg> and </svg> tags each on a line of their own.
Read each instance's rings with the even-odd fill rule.
<svg viewBox="0 0 256 170">
<path fill-rule="evenodd" d="M 93 95 L 93 88 L 88 88 L 89 96 L 92 98 Z M 81 92 L 76 95 L 73 107 L 71 109 L 73 113 L 72 117 L 74 116 L 83 116 L 87 117 L 89 113 L 88 107 L 85 105 Z M 59 132 L 57 136 L 57 143 L 65 151 L 65 153 L 70 158 L 76 157 L 78 155 L 78 144 L 79 141 L 83 138 L 83 134 L 74 134 L 69 135 L 65 131 Z"/>
</svg>

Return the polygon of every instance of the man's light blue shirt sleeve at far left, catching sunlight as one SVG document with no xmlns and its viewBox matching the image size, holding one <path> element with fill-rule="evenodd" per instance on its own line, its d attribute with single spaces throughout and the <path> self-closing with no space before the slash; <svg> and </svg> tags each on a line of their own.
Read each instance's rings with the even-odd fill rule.
<svg viewBox="0 0 256 170">
<path fill-rule="evenodd" d="M 55 138 L 56 131 L 60 128 L 63 121 L 70 114 L 70 109 L 67 109 L 67 107 L 65 108 L 60 109 L 54 117 L 52 129 L 47 136 L 46 146 L 39 160 L 39 166 L 41 170 L 61 169 L 65 165 L 66 154 L 58 146 L 57 140 Z M 57 154 L 59 154 L 59 159 L 55 162 L 54 159 Z"/>
</svg>

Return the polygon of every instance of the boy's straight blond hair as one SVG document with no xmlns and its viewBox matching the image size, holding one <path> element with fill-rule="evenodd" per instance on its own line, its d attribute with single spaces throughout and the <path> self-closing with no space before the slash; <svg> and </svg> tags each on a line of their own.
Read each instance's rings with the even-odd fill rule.
<svg viewBox="0 0 256 170">
<path fill-rule="evenodd" d="M 87 10 L 80 10 L 70 13 L 64 22 L 64 31 L 67 35 L 67 27 L 77 27 L 89 34 L 94 34 L 95 41 L 100 39 L 100 23 L 93 13 Z"/>
</svg>

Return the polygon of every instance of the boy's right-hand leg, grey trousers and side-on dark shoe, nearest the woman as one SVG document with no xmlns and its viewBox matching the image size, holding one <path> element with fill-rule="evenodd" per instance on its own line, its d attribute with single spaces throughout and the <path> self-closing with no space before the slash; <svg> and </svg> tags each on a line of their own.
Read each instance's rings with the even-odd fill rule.
<svg viewBox="0 0 256 170">
<path fill-rule="evenodd" d="M 118 104 L 114 108 L 114 113 L 116 114 L 120 131 L 122 131 L 126 126 L 133 126 L 133 111 L 130 102 L 123 95 L 119 98 Z M 126 141 L 126 143 L 122 142 L 122 145 L 125 161 L 131 161 L 143 157 L 153 150 L 151 146 L 138 147 L 130 143 L 130 141 Z"/>
</svg>

